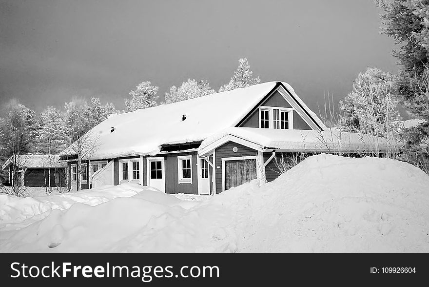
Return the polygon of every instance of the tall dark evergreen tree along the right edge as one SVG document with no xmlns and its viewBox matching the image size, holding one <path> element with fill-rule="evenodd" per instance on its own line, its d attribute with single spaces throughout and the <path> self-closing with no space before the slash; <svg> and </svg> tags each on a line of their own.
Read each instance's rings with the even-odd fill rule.
<svg viewBox="0 0 429 287">
<path fill-rule="evenodd" d="M 376 0 L 385 10 L 383 32 L 400 44 L 393 56 L 399 60 L 396 81 L 400 103 L 419 125 L 405 129 L 402 160 L 429 173 L 429 0 Z"/>
</svg>

